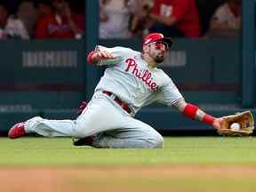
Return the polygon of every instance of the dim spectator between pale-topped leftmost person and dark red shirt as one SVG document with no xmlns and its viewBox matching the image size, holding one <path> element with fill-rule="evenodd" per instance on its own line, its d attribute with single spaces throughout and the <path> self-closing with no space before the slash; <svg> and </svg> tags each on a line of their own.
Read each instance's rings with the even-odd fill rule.
<svg viewBox="0 0 256 192">
<path fill-rule="evenodd" d="M 18 7 L 17 16 L 24 23 L 29 36 L 34 36 L 37 11 L 33 0 L 23 0 Z"/>
</svg>

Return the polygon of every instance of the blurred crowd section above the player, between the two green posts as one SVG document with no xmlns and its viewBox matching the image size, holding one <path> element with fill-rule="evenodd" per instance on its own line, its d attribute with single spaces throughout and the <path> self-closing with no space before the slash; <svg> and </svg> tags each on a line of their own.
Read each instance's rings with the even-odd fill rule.
<svg viewBox="0 0 256 192">
<path fill-rule="evenodd" d="M 231 36 L 240 28 L 241 0 L 100 0 L 100 38 Z"/>
</svg>

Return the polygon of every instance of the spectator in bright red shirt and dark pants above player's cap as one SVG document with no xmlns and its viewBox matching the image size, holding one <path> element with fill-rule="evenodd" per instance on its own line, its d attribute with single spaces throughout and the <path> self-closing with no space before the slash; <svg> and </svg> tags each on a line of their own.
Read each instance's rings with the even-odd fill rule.
<svg viewBox="0 0 256 192">
<path fill-rule="evenodd" d="M 155 0 L 149 16 L 150 32 L 160 32 L 172 37 L 200 36 L 201 27 L 195 0 Z"/>
</svg>

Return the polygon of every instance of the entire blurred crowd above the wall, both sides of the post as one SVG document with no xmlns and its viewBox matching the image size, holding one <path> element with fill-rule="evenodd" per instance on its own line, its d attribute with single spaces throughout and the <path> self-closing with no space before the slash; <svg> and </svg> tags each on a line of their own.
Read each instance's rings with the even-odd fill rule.
<svg viewBox="0 0 256 192">
<path fill-rule="evenodd" d="M 242 0 L 99 0 L 101 39 L 239 36 Z M 0 38 L 81 38 L 84 0 L 0 0 Z M 235 32 L 234 32 L 235 31 Z"/>
</svg>

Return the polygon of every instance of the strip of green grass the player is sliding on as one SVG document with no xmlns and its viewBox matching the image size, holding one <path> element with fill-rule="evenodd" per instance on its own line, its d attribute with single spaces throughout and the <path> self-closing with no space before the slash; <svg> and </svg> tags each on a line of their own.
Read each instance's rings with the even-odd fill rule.
<svg viewBox="0 0 256 192">
<path fill-rule="evenodd" d="M 0 166 L 256 165 L 256 139 L 167 137 L 162 149 L 74 147 L 68 138 L 0 138 Z"/>
</svg>

